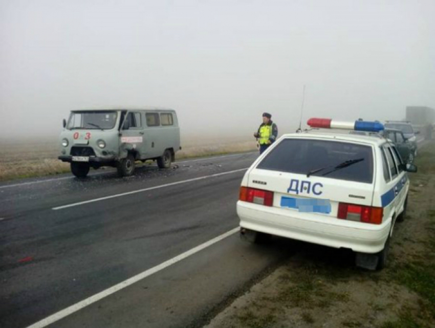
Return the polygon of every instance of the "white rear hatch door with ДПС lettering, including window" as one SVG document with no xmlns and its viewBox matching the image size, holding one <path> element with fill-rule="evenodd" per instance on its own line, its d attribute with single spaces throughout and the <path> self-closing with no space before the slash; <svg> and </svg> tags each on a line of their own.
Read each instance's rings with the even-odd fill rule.
<svg viewBox="0 0 435 328">
<path fill-rule="evenodd" d="M 373 159 L 370 144 L 281 139 L 249 172 L 248 187 L 272 191 L 273 207 L 288 209 L 290 216 L 336 218 L 340 203 L 372 205 Z"/>
</svg>

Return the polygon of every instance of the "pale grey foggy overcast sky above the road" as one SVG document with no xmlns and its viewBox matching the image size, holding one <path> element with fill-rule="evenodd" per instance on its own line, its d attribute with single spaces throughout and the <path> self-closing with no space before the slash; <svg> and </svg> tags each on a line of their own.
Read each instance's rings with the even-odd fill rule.
<svg viewBox="0 0 435 328">
<path fill-rule="evenodd" d="M 435 1 L 0 0 L 0 137 L 70 110 L 163 106 L 184 134 L 435 107 Z"/>
</svg>

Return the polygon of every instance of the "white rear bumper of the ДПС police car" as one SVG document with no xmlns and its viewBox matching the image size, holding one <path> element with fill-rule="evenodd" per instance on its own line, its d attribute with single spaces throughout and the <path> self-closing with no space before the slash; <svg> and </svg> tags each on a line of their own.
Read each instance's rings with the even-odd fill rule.
<svg viewBox="0 0 435 328">
<path fill-rule="evenodd" d="M 377 253 L 384 248 L 390 220 L 381 225 L 340 220 L 335 217 L 237 202 L 241 228 L 355 252 Z"/>
</svg>

